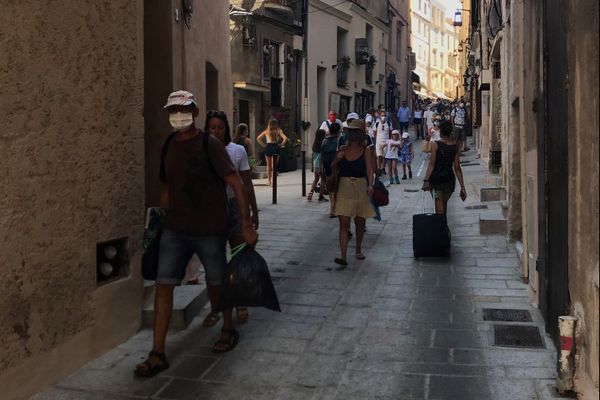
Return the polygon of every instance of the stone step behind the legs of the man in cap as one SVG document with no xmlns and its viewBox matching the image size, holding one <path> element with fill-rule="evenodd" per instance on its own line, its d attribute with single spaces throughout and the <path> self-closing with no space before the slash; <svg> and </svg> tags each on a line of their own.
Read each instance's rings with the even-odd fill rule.
<svg viewBox="0 0 600 400">
<path fill-rule="evenodd" d="M 198 285 L 183 285 L 175 287 L 173 293 L 173 316 L 171 329 L 185 329 L 208 302 L 208 292 L 204 282 Z M 144 327 L 152 327 L 154 320 L 154 290 L 148 296 L 143 310 Z"/>
</svg>

